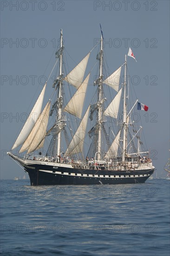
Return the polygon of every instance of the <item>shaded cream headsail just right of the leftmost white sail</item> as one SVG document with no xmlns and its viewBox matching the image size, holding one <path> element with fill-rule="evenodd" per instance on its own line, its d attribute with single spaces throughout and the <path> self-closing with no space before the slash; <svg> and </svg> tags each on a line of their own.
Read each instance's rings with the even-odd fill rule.
<svg viewBox="0 0 170 256">
<path fill-rule="evenodd" d="M 33 152 L 39 144 L 44 140 L 46 136 L 46 128 L 48 123 L 49 111 L 50 111 L 50 101 L 47 102 L 41 115 L 39 115 L 31 133 L 28 135 L 26 141 L 20 149 L 20 153 L 28 150 L 27 153 Z"/>
</svg>

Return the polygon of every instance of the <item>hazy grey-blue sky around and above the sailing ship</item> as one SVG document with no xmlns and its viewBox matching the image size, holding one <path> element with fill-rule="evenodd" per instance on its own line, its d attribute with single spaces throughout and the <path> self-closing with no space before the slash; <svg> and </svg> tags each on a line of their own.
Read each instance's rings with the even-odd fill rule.
<svg viewBox="0 0 170 256">
<path fill-rule="evenodd" d="M 129 62 L 131 74 L 140 79 L 137 96 L 149 106 L 147 116 L 140 113 L 145 139 L 148 149 L 155 150 L 158 175 L 165 176 L 170 147 L 170 1 L 1 0 L 0 4 L 0 178 L 25 174 L 6 152 L 23 125 L 22 113 L 33 106 L 35 93 L 38 97 L 42 75 L 52 68 L 47 64 L 51 56 L 55 59 L 60 29 L 67 52 L 78 63 L 100 37 L 99 23 L 111 70 L 123 63 L 129 47 L 136 56 L 137 63 L 132 58 Z"/>
</svg>

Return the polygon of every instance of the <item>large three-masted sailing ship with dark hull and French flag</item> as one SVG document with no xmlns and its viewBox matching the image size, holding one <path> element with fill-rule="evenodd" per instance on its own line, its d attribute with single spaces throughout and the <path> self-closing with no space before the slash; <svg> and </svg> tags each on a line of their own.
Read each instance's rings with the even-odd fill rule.
<svg viewBox="0 0 170 256">
<path fill-rule="evenodd" d="M 94 81 L 94 94 L 89 107 L 84 110 L 87 85 L 95 64 L 85 79 L 84 76 L 89 56 L 97 45 L 98 73 Z M 103 33 L 97 45 L 67 73 L 63 69 L 61 30 L 54 65 L 56 67 L 59 62 L 59 73 L 55 75 L 52 85 L 52 97 L 41 112 L 48 78 L 12 148 L 14 150 L 21 146 L 19 153 L 26 154 L 21 157 L 12 151 L 7 153 L 25 169 L 31 185 L 137 183 L 145 182 L 155 170 L 141 140 L 142 126 L 137 128 L 138 122 L 133 120 L 135 107 L 145 111 L 148 107 L 137 99 L 130 101 L 127 56 L 124 63 L 109 74 L 104 62 Z M 131 49 L 128 55 L 135 59 Z M 72 95 L 67 99 L 69 94 Z M 54 120 L 53 124 L 50 119 Z M 51 125 L 49 129 L 48 123 Z M 49 146 L 46 154 L 42 155 L 45 140 L 49 141 Z M 43 148 L 41 152 L 40 148 Z"/>
</svg>

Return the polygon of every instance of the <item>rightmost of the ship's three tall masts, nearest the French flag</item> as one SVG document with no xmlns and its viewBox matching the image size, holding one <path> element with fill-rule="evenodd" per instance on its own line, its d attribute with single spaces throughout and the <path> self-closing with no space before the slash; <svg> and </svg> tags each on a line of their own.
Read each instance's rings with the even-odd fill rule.
<svg viewBox="0 0 170 256">
<path fill-rule="evenodd" d="M 127 116 L 127 109 L 126 109 L 126 55 L 124 61 L 124 96 L 123 96 L 123 149 L 122 149 L 122 162 L 125 161 L 125 154 L 126 154 L 126 116 Z"/>
</svg>

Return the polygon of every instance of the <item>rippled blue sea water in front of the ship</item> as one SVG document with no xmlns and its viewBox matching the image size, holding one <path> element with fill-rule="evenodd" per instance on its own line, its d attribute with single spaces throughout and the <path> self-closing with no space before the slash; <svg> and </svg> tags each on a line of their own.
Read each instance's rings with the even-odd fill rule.
<svg viewBox="0 0 170 256">
<path fill-rule="evenodd" d="M 3 256 L 169 256 L 170 180 L 30 186 L 2 180 Z"/>
</svg>

